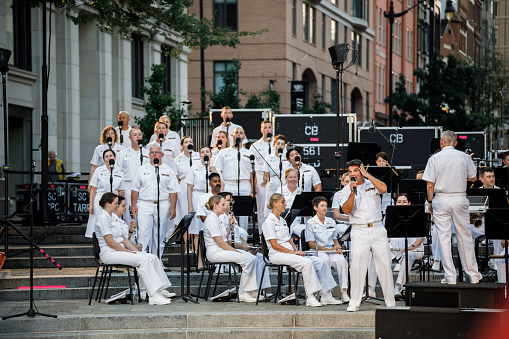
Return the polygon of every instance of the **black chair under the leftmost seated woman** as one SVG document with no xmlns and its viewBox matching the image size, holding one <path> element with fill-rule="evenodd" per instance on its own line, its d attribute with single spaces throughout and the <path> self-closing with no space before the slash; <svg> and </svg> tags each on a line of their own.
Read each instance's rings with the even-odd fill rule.
<svg viewBox="0 0 509 339">
<path fill-rule="evenodd" d="M 131 293 L 131 305 L 134 305 L 134 298 L 133 296 L 133 286 L 131 283 L 131 269 L 134 272 L 134 281 L 136 282 L 136 286 L 138 287 L 138 301 L 141 302 L 140 298 L 140 284 L 138 279 L 138 271 L 136 270 L 136 267 L 129 266 L 129 265 L 118 265 L 118 264 L 112 264 L 107 265 L 104 264 L 101 261 L 101 258 L 99 257 L 99 253 L 101 252 L 99 248 L 99 240 L 97 239 L 97 236 L 95 235 L 95 232 L 92 234 L 92 241 L 94 245 L 94 259 L 97 264 L 97 270 L 95 271 L 95 278 L 94 278 L 94 284 L 92 285 L 92 290 L 90 291 L 90 297 L 88 298 L 88 304 L 90 305 L 92 303 L 92 296 L 94 295 L 94 289 L 95 284 L 97 282 L 97 276 L 99 275 L 99 270 L 102 268 L 101 272 L 101 278 L 99 279 L 99 286 L 97 287 L 97 293 L 95 296 L 95 301 L 101 302 L 102 298 L 102 292 L 104 291 L 104 298 L 106 299 L 106 295 L 108 294 L 108 288 L 110 287 L 110 279 L 111 279 L 111 272 L 113 271 L 113 267 L 117 268 L 125 268 L 127 271 L 127 278 L 129 280 L 129 291 Z M 104 285 L 106 284 L 106 289 L 104 289 Z M 99 300 L 98 300 L 99 299 Z"/>
</svg>

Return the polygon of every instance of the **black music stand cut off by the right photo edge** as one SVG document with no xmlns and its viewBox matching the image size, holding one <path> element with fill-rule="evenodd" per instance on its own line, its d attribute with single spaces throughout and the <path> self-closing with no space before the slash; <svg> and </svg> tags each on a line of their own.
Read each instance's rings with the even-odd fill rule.
<svg viewBox="0 0 509 339">
<path fill-rule="evenodd" d="M 509 239 L 509 208 L 489 208 L 484 215 L 484 232 L 487 239 Z M 504 246 L 506 283 L 509 281 L 508 249 Z"/>
</svg>

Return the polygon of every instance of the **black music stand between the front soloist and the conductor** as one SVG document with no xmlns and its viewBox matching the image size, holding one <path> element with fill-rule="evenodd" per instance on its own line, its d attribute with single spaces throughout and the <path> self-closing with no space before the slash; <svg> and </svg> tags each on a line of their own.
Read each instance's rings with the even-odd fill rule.
<svg viewBox="0 0 509 339">
<path fill-rule="evenodd" d="M 405 238 L 405 273 L 408 274 L 408 237 L 427 238 L 429 230 L 424 205 L 387 206 L 385 228 L 388 238 Z"/>
</svg>

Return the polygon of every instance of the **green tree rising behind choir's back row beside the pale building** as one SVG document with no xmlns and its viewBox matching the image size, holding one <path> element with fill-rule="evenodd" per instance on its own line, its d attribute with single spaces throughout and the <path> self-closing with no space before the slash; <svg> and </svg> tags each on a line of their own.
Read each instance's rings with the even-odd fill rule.
<svg viewBox="0 0 509 339">
<path fill-rule="evenodd" d="M 145 100 L 143 107 L 145 115 L 141 118 L 134 117 L 134 121 L 140 126 L 143 132 L 143 143 L 146 145 L 154 133 L 154 125 L 162 115 L 167 115 L 171 120 L 171 129 L 177 130 L 179 121 L 186 114 L 174 107 L 175 98 L 169 93 L 163 93 L 163 82 L 166 81 L 165 64 L 152 65 L 152 74 L 145 78 L 145 85 L 141 93 Z"/>
</svg>

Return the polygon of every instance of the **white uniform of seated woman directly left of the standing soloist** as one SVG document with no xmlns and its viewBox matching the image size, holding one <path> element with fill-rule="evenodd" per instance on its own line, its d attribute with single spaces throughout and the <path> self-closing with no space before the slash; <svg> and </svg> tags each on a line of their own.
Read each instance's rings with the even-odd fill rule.
<svg viewBox="0 0 509 339">
<path fill-rule="evenodd" d="M 336 222 L 332 218 L 325 217 L 324 223 L 314 216 L 308 220 L 306 225 L 306 241 L 315 242 L 316 245 L 332 248 L 334 239 L 338 236 Z M 338 273 L 340 287 L 342 290 L 348 288 L 348 263 L 342 254 L 338 253 L 317 253 L 319 258 L 324 259 L 329 267 L 334 267 Z"/>
</svg>

